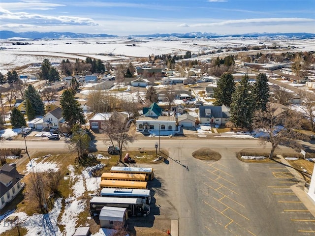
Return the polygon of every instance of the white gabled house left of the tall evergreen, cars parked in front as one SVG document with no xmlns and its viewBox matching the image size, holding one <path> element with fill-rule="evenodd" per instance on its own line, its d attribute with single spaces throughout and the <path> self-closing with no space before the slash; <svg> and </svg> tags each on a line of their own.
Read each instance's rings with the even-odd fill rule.
<svg viewBox="0 0 315 236">
<path fill-rule="evenodd" d="M 34 123 L 35 129 L 59 129 L 60 125 L 64 123 L 63 110 L 61 107 L 47 112 L 46 115 Z"/>
</svg>

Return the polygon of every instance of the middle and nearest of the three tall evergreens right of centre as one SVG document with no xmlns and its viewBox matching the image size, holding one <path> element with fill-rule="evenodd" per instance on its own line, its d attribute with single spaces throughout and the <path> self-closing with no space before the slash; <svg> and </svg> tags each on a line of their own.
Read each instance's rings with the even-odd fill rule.
<svg viewBox="0 0 315 236">
<path fill-rule="evenodd" d="M 253 116 L 252 86 L 248 75 L 244 75 L 232 95 L 231 121 L 236 127 L 250 128 Z"/>
</svg>

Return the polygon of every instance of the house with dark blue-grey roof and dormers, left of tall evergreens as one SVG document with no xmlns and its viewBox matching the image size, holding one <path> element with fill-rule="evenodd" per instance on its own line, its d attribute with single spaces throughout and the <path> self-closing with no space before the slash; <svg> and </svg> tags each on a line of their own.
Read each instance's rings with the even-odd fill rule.
<svg viewBox="0 0 315 236">
<path fill-rule="evenodd" d="M 230 108 L 226 106 L 200 106 L 199 107 L 200 124 L 226 124 L 231 117 Z"/>
</svg>

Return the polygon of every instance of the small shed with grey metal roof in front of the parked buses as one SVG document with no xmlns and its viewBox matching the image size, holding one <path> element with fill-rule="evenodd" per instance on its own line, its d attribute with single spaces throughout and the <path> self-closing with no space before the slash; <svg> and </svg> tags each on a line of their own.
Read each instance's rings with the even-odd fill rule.
<svg viewBox="0 0 315 236">
<path fill-rule="evenodd" d="M 101 228 L 113 228 L 115 225 L 126 225 L 127 208 L 103 207 L 99 213 Z"/>
</svg>

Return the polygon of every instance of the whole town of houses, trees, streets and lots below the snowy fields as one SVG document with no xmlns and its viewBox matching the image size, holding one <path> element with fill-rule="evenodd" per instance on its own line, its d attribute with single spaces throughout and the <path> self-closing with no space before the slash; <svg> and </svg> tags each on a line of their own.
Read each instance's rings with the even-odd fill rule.
<svg viewBox="0 0 315 236">
<path fill-rule="evenodd" d="M 312 235 L 315 52 L 259 47 L 1 72 L 0 234 Z"/>
</svg>

